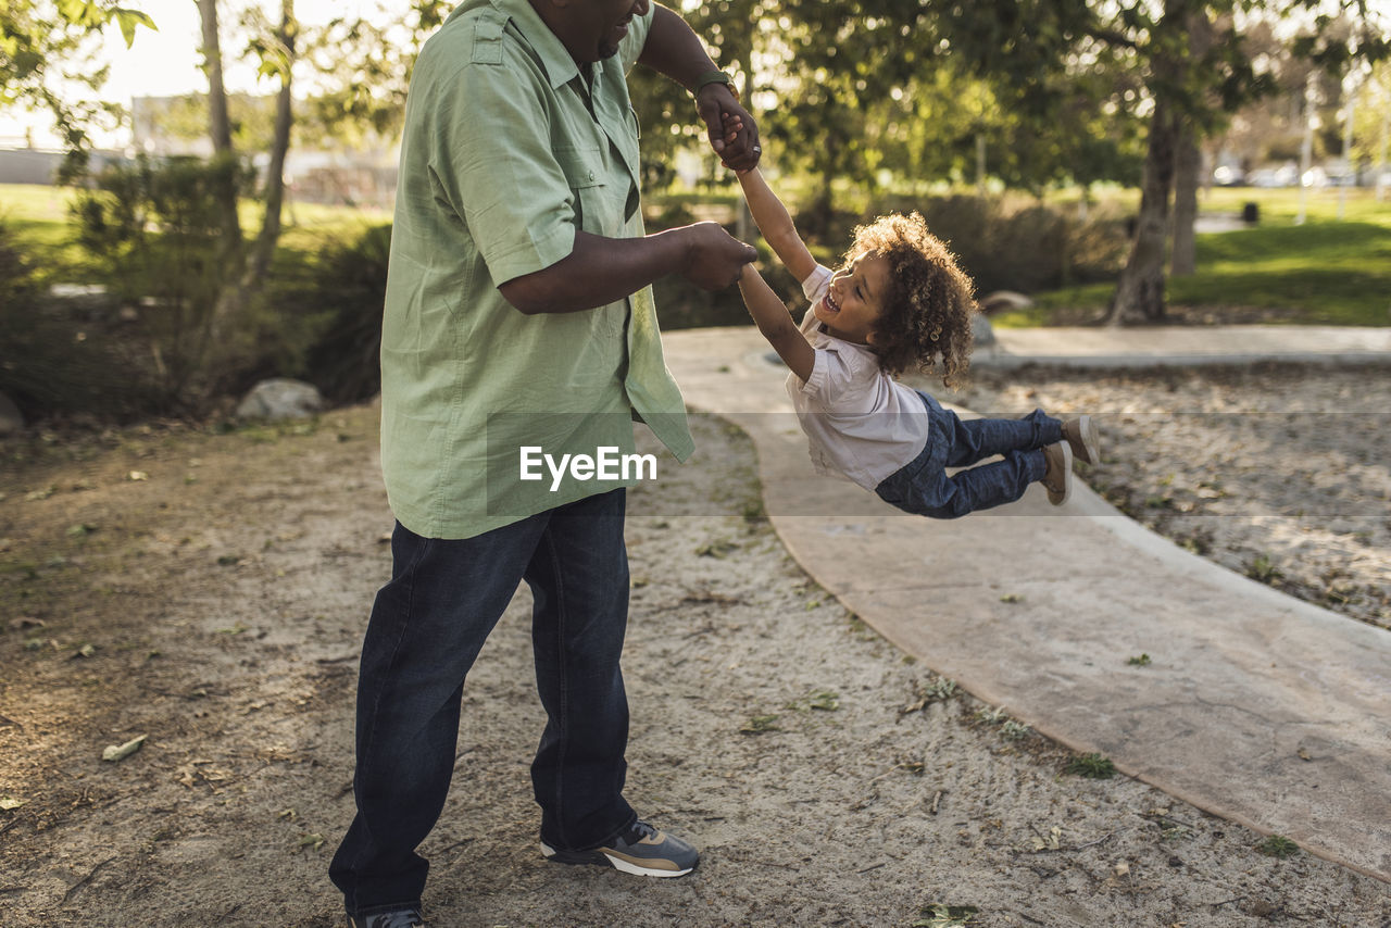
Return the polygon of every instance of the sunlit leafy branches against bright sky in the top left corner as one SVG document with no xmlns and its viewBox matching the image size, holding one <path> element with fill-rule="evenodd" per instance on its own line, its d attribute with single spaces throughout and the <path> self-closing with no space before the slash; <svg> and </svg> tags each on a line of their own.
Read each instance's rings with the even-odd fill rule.
<svg viewBox="0 0 1391 928">
<path fill-rule="evenodd" d="M 146 14 L 114 0 L 0 3 L 0 109 L 19 106 L 51 114 L 70 152 L 68 174 L 86 161 L 88 129 L 118 115 L 118 107 L 95 99 L 107 71 L 93 65 L 93 54 L 110 22 L 120 26 L 127 47 L 135 43 L 139 26 L 154 28 Z M 58 89 L 63 82 L 93 96 L 71 100 Z"/>
</svg>

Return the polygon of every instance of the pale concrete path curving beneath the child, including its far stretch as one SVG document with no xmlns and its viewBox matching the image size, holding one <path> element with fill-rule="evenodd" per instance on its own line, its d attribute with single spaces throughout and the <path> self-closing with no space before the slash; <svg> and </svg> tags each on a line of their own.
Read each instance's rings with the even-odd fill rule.
<svg viewBox="0 0 1391 928">
<path fill-rule="evenodd" d="M 1173 330 L 1015 331 L 995 353 L 1047 346 L 1050 363 L 1064 349 L 1155 363 L 1242 346 L 1285 358 L 1391 349 L 1388 330 L 1362 330 L 1362 341 L 1345 330 L 1199 331 L 1191 342 Z M 1391 633 L 1192 555 L 1085 486 L 1063 508 L 1034 487 L 960 520 L 901 515 L 811 472 L 786 369 L 766 360 L 753 327 L 664 338 L 687 403 L 751 435 L 787 550 L 890 641 L 1074 750 L 1391 882 Z M 1142 653 L 1149 666 L 1127 664 Z"/>
</svg>

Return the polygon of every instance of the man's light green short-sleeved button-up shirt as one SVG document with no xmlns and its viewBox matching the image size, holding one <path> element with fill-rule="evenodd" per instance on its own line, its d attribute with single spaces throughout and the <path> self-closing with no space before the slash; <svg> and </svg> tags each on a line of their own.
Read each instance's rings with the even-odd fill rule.
<svg viewBox="0 0 1391 928">
<path fill-rule="evenodd" d="M 640 237 L 626 74 L 651 13 L 581 74 L 527 0 L 466 0 L 410 79 L 381 344 L 392 512 L 467 538 L 629 480 L 522 480 L 522 449 L 633 451 L 633 419 L 693 442 L 651 288 L 594 310 L 517 312 L 498 292 L 568 257 L 576 230 Z"/>
</svg>

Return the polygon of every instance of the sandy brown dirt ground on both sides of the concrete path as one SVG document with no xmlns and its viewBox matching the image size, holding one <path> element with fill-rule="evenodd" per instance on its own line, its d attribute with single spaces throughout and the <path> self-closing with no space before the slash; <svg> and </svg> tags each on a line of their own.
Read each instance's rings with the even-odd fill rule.
<svg viewBox="0 0 1391 928">
<path fill-rule="evenodd" d="M 1373 395 L 1365 371 L 1015 371 L 978 374 L 970 398 L 1117 410 L 1093 477 L 1117 498 L 1167 487 L 1167 516 L 1187 515 L 1188 490 L 1160 481 L 1191 473 L 1170 466 L 1191 448 L 1145 430 L 1174 408 L 1171 383 L 1193 410 L 1278 388 L 1383 412 L 1378 377 Z M 352 817 L 359 641 L 389 569 L 376 417 L 0 444 L 0 927 L 339 924 L 325 870 Z M 1068 774 L 1066 750 L 906 658 L 790 561 L 758 516 L 747 440 L 694 424 L 719 466 L 668 461 L 633 493 L 625 668 L 627 796 L 701 847 L 700 870 L 644 881 L 541 860 L 520 593 L 470 675 L 455 786 L 423 849 L 434 925 L 1391 925 L 1385 883 L 1269 853 L 1136 781 Z M 1367 481 L 1388 459 L 1367 455 Z M 1287 466 L 1230 463 L 1224 487 Z M 1348 594 L 1365 604 L 1387 590 L 1378 512 L 1348 538 L 1217 513 L 1228 533 L 1207 552 L 1245 544 L 1288 582 L 1303 575 L 1287 554 L 1344 563 L 1345 544 L 1372 565 Z M 1384 623 L 1377 608 L 1358 618 Z"/>
</svg>

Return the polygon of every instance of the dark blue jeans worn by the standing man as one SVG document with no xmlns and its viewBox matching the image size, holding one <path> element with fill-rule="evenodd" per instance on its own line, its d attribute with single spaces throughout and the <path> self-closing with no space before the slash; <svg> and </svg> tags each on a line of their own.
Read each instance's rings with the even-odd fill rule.
<svg viewBox="0 0 1391 928">
<path fill-rule="evenodd" d="M 430 864 L 416 846 L 449 792 L 463 680 L 522 580 L 548 715 L 531 764 L 541 839 L 586 850 L 637 818 L 622 794 L 625 505 L 615 490 L 462 541 L 396 525 L 357 680 L 357 815 L 330 867 L 349 914 L 419 904 Z"/>
</svg>

